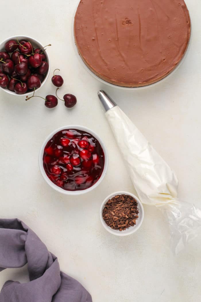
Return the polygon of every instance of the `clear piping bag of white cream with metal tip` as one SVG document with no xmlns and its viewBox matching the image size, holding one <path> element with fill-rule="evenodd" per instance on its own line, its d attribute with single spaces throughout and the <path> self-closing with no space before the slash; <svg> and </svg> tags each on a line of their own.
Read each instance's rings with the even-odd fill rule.
<svg viewBox="0 0 201 302">
<path fill-rule="evenodd" d="M 162 211 L 170 227 L 171 249 L 178 254 L 198 236 L 201 210 L 177 198 L 177 175 L 103 90 L 98 96 L 138 197 Z"/>
</svg>

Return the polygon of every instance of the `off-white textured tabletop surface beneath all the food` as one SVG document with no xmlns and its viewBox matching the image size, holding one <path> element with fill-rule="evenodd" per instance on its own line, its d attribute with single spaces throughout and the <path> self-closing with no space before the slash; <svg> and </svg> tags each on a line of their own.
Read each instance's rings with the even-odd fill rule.
<svg viewBox="0 0 201 302">
<path fill-rule="evenodd" d="M 134 235 L 118 238 L 103 229 L 99 221 L 103 199 L 120 189 L 135 192 L 96 96 L 97 90 L 105 89 L 115 99 L 177 173 L 179 197 L 201 207 L 200 1 L 186 0 L 193 33 L 181 68 L 163 83 L 136 92 L 103 85 L 80 65 L 71 37 L 76 2 L 2 4 L 10 21 L 1 14 L 1 40 L 24 33 L 45 45 L 52 43 L 48 50 L 52 72 L 60 68 L 65 81 L 59 94 L 75 94 L 78 104 L 71 111 L 61 102 L 48 110 L 40 99 L 25 102 L 0 92 L 0 215 L 18 217 L 33 228 L 58 256 L 61 269 L 90 291 L 93 302 L 200 302 L 201 236 L 174 257 L 165 220 L 149 206 L 145 206 L 143 226 Z M 50 77 L 40 95 L 54 91 Z M 38 168 L 43 140 L 65 124 L 92 128 L 108 147 L 107 176 L 95 191 L 82 197 L 52 190 Z M 3 271 L 0 287 L 8 279 L 27 281 L 25 272 L 26 267 Z"/>
</svg>

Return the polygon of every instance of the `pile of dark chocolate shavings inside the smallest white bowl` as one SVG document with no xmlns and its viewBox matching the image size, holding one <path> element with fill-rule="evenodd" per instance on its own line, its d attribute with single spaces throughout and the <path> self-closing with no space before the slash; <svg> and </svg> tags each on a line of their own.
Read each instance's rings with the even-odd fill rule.
<svg viewBox="0 0 201 302">
<path fill-rule="evenodd" d="M 116 195 L 109 199 L 102 212 L 105 223 L 113 230 L 124 231 L 136 224 L 139 210 L 137 201 L 130 195 Z"/>
</svg>

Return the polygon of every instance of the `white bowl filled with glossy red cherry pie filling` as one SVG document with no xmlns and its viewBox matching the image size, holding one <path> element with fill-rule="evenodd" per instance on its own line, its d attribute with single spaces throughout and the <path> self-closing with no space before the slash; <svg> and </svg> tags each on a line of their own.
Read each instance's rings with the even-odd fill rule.
<svg viewBox="0 0 201 302">
<path fill-rule="evenodd" d="M 56 191 L 81 195 L 96 188 L 108 169 L 108 151 L 92 130 L 78 125 L 49 134 L 39 152 L 39 168 Z"/>
</svg>

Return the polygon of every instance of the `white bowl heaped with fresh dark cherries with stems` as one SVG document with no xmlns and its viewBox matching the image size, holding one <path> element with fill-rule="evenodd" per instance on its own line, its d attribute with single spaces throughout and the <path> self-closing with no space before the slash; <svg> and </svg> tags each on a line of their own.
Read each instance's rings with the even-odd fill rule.
<svg viewBox="0 0 201 302">
<path fill-rule="evenodd" d="M 39 41 L 27 36 L 14 36 L 0 44 L 0 88 L 5 92 L 11 95 L 33 94 L 45 84 L 49 72 L 49 56 Z"/>
</svg>

